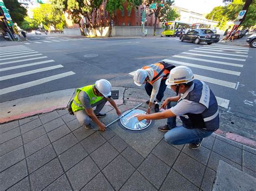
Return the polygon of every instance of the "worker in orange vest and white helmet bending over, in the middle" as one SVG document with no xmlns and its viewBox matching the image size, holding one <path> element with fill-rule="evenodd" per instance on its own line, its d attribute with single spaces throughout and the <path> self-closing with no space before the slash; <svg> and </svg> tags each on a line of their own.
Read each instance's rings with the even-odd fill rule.
<svg viewBox="0 0 256 191">
<path fill-rule="evenodd" d="M 145 84 L 146 93 L 150 96 L 150 100 L 146 102 L 149 104 L 147 114 L 150 114 L 150 109 L 155 100 L 154 112 L 159 111 L 159 103 L 164 97 L 166 89 L 165 81 L 170 74 L 170 70 L 174 67 L 169 63 L 159 62 L 136 70 L 133 76 L 134 83 L 137 86 Z"/>
</svg>

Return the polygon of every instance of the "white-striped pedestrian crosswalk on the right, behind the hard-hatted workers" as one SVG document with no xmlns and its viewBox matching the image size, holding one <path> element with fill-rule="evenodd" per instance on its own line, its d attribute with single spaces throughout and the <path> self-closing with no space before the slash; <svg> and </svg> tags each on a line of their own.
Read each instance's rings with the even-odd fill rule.
<svg viewBox="0 0 256 191">
<path fill-rule="evenodd" d="M 249 48 L 246 47 L 203 45 L 162 61 L 174 66 L 190 67 L 194 72 L 195 79 L 207 82 L 210 87 L 214 84 L 216 89 L 223 87 L 235 91 L 239 85 L 239 82 L 235 81 L 237 80 L 235 76 L 241 75 L 241 69 L 244 67 L 243 63 L 248 58 L 248 51 Z M 129 74 L 134 75 L 134 71 Z M 218 91 L 214 94 L 218 105 L 228 109 L 232 97 L 223 93 L 219 94 Z"/>
</svg>

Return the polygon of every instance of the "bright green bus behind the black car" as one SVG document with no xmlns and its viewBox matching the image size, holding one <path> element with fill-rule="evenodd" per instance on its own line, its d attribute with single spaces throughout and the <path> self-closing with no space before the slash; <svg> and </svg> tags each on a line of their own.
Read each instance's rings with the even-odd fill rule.
<svg viewBox="0 0 256 191">
<path fill-rule="evenodd" d="M 164 32 L 161 33 L 161 37 L 166 36 L 166 37 L 170 37 L 170 36 L 174 36 L 176 30 L 178 29 L 191 29 L 191 24 L 190 23 L 186 23 L 186 22 L 181 22 L 179 20 L 172 20 L 172 21 L 168 21 L 165 22 L 165 29 Z"/>
</svg>

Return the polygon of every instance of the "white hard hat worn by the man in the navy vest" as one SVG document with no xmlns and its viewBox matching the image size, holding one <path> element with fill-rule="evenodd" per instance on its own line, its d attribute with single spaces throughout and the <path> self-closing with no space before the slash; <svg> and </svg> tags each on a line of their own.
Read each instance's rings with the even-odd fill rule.
<svg viewBox="0 0 256 191">
<path fill-rule="evenodd" d="M 187 66 L 177 66 L 170 71 L 169 79 L 165 81 L 166 85 L 175 85 L 179 83 L 188 83 L 194 80 L 194 74 Z"/>
</svg>

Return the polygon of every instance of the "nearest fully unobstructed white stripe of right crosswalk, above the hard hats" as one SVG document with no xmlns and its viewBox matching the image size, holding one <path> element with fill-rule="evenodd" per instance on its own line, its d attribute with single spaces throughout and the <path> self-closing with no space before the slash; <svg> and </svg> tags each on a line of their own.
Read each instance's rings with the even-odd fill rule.
<svg viewBox="0 0 256 191">
<path fill-rule="evenodd" d="M 206 69 L 206 70 L 211 70 L 214 72 L 220 72 L 224 74 L 231 74 L 231 75 L 237 75 L 240 76 L 240 72 L 235 72 L 232 70 L 227 70 L 227 69 L 220 69 L 220 68 L 214 68 L 214 67 L 209 67 L 209 66 L 201 66 L 201 65 L 196 65 L 193 63 L 187 63 L 187 62 L 181 62 L 181 61 L 176 61 L 176 60 L 169 60 L 169 59 L 164 59 L 163 61 L 165 62 L 170 62 L 170 63 L 177 63 L 178 65 L 184 65 L 184 66 L 190 66 L 194 68 L 201 68 L 201 69 Z"/>
</svg>

